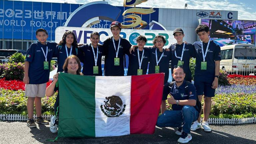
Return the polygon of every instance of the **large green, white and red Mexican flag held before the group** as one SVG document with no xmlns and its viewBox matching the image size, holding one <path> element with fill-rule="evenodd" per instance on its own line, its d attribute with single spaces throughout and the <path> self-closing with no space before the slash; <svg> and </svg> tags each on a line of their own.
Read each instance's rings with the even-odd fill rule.
<svg viewBox="0 0 256 144">
<path fill-rule="evenodd" d="M 59 74 L 58 137 L 153 134 L 164 74 L 81 76 Z"/>
</svg>

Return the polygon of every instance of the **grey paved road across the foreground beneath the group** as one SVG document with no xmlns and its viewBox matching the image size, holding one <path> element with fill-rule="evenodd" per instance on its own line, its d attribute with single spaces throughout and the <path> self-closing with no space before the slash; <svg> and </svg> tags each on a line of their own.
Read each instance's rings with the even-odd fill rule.
<svg viewBox="0 0 256 144">
<path fill-rule="evenodd" d="M 212 132 L 198 129 L 192 132 L 190 144 L 256 144 L 256 124 L 211 125 Z M 29 128 L 26 122 L 0 122 L 0 144 L 175 144 L 179 136 L 177 128 L 158 128 L 155 134 L 135 134 L 104 138 L 59 138 L 57 142 L 49 142 L 57 134 L 52 134 L 49 125 L 38 125 Z"/>
</svg>

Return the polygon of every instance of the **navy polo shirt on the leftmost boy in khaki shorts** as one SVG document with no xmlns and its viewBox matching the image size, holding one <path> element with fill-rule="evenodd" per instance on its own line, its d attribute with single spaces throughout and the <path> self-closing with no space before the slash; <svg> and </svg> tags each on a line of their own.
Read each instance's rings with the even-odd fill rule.
<svg viewBox="0 0 256 144">
<path fill-rule="evenodd" d="M 48 47 L 47 61 L 49 69 L 44 69 L 45 57 L 42 49 L 46 55 L 46 47 Z M 25 61 L 29 62 L 28 77 L 29 84 L 43 84 L 49 81 L 51 59 L 57 56 L 56 43 L 46 42 L 46 45 L 39 41 L 32 43 L 28 50 Z"/>
</svg>

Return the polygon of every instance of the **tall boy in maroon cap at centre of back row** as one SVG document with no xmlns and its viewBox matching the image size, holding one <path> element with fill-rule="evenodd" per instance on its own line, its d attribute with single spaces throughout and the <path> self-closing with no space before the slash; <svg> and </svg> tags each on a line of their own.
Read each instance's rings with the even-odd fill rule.
<svg viewBox="0 0 256 144">
<path fill-rule="evenodd" d="M 124 76 L 124 56 L 129 54 L 132 46 L 130 42 L 120 37 L 121 23 L 114 21 L 110 26 L 112 37 L 106 39 L 103 43 L 105 64 L 105 76 Z"/>
</svg>

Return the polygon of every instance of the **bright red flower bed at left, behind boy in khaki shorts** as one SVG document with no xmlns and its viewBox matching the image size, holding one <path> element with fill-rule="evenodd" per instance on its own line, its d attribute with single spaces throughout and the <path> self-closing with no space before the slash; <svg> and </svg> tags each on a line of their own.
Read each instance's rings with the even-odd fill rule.
<svg viewBox="0 0 256 144">
<path fill-rule="evenodd" d="M 46 83 L 48 87 L 52 81 Z M 0 88 L 9 89 L 9 90 L 25 90 L 25 84 L 20 80 L 5 80 L 5 78 L 0 79 Z"/>
</svg>

